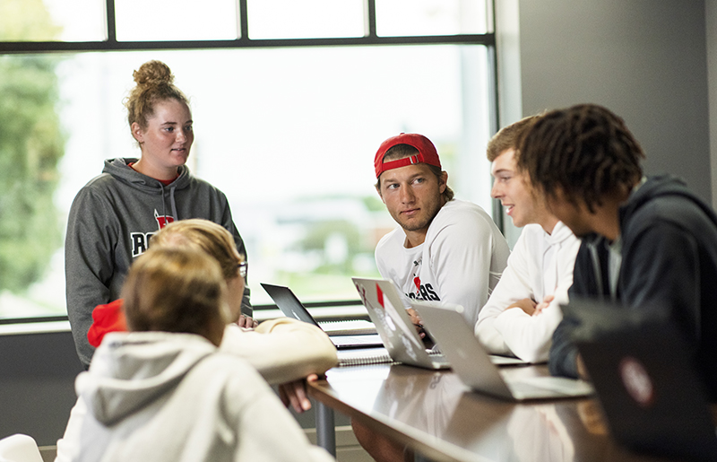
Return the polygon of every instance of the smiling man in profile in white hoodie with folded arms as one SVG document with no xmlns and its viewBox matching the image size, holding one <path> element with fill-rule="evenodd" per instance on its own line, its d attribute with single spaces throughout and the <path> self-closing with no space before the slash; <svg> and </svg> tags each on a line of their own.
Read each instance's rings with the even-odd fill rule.
<svg viewBox="0 0 717 462">
<path fill-rule="evenodd" d="M 580 248 L 580 240 L 548 211 L 527 173 L 516 166 L 516 146 L 537 118 L 505 126 L 488 143 L 495 178 L 491 196 L 500 199 L 523 232 L 475 326 L 490 353 L 513 354 L 526 362 L 548 360 L 553 331 L 562 319 L 558 304 L 567 301 Z"/>
</svg>

